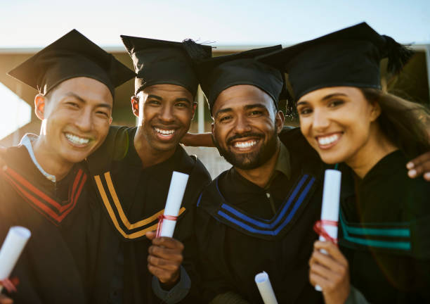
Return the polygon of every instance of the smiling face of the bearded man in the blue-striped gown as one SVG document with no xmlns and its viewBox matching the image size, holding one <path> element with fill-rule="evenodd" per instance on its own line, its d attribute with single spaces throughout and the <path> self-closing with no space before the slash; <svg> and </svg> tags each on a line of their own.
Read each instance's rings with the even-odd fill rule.
<svg viewBox="0 0 430 304">
<path fill-rule="evenodd" d="M 273 99 L 252 85 L 236 85 L 219 94 L 212 108 L 214 143 L 226 160 L 252 170 L 275 155 L 284 123 Z"/>
</svg>

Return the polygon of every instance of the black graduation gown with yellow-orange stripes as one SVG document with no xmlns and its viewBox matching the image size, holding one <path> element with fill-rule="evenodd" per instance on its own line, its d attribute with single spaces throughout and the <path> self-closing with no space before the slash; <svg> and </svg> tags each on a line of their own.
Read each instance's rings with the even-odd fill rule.
<svg viewBox="0 0 430 304">
<path fill-rule="evenodd" d="M 148 271 L 147 262 L 151 242 L 146 239 L 145 232 L 157 228 L 157 216 L 164 212 L 171 175 L 175 170 L 190 175 L 174 238 L 185 246 L 182 265 L 192 281 L 190 293 L 182 303 L 196 303 L 200 279 L 193 262 L 197 253 L 193 218 L 195 202 L 204 186 L 211 181 L 209 172 L 200 160 L 188 156 L 181 146 L 168 160 L 143 169 L 133 145 L 135 133 L 136 127 L 111 127 L 103 146 L 87 160 L 104 213 L 95 224 L 100 229 L 98 234 L 94 234 L 100 243 L 98 251 L 105 254 L 96 261 L 94 284 L 105 286 L 105 290 L 95 294 L 93 300 L 102 302 L 109 297 L 118 252 L 122 250 L 123 303 L 160 302 L 152 292 L 152 274 Z"/>
</svg>

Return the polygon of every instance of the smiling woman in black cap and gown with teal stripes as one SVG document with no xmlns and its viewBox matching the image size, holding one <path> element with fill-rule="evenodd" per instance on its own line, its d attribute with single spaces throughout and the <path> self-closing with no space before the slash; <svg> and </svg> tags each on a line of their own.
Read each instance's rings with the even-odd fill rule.
<svg viewBox="0 0 430 304">
<path fill-rule="evenodd" d="M 430 116 L 382 91 L 379 78 L 383 58 L 394 75 L 410 56 L 361 23 L 262 58 L 289 73 L 309 144 L 341 163 L 339 248 L 316 241 L 309 260 L 325 303 L 356 303 L 360 293 L 371 303 L 430 300 L 430 187 L 405 167 L 430 150 Z"/>
</svg>

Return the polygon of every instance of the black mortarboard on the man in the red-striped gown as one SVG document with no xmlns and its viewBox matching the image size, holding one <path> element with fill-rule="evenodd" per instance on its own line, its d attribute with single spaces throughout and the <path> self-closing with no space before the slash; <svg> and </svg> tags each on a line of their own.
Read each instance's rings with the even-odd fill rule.
<svg viewBox="0 0 430 304">
<path fill-rule="evenodd" d="M 83 34 L 72 30 L 8 72 L 8 75 L 44 95 L 65 80 L 89 77 L 106 84 L 114 96 L 115 87 L 136 74 Z"/>
</svg>

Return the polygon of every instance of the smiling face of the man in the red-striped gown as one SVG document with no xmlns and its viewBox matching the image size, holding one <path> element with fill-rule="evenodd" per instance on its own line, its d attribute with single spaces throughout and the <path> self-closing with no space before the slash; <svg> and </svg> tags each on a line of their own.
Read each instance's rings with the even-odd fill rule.
<svg viewBox="0 0 430 304">
<path fill-rule="evenodd" d="M 42 120 L 39 141 L 45 155 L 60 163 L 84 160 L 105 140 L 112 103 L 107 86 L 88 77 L 65 80 L 48 97 L 36 96 L 36 114 Z"/>
</svg>

